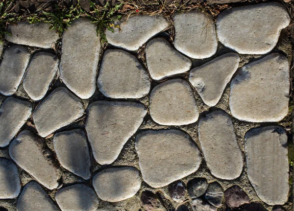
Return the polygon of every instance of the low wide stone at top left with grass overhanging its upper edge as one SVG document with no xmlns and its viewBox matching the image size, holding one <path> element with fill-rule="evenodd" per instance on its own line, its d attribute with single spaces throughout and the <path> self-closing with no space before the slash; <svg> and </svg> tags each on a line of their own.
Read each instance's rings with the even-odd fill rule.
<svg viewBox="0 0 294 211">
<path fill-rule="evenodd" d="M 55 30 L 50 30 L 50 24 L 44 22 L 9 24 L 7 30 L 12 35 L 5 35 L 7 41 L 25 46 L 51 48 L 59 38 Z"/>
</svg>

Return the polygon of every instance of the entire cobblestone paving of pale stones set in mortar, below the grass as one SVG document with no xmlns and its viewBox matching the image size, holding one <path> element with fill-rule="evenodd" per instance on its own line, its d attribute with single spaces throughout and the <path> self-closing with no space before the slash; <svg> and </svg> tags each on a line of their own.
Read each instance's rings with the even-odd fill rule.
<svg viewBox="0 0 294 211">
<path fill-rule="evenodd" d="M 287 9 L 125 20 L 8 27 L 0 211 L 292 210 Z"/>
</svg>

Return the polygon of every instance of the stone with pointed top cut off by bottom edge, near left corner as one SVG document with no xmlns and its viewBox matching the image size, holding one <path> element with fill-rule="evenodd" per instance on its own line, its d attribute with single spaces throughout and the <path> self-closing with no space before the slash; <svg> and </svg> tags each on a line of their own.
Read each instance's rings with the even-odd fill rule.
<svg viewBox="0 0 294 211">
<path fill-rule="evenodd" d="M 35 181 L 25 185 L 16 204 L 17 211 L 59 211 L 48 193 Z"/>
</svg>

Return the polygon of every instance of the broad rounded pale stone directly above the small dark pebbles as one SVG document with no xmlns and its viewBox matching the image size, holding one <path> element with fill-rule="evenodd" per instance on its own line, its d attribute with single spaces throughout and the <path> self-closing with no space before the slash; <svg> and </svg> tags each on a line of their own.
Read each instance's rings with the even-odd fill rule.
<svg viewBox="0 0 294 211">
<path fill-rule="evenodd" d="M 135 142 L 144 181 L 160 188 L 195 172 L 201 155 L 191 137 L 180 130 L 147 130 Z"/>
</svg>

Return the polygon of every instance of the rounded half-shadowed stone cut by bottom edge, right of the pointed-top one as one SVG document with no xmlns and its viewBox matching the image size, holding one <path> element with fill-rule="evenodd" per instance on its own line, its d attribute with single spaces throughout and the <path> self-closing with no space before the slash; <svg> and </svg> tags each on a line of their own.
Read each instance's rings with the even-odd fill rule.
<svg viewBox="0 0 294 211">
<path fill-rule="evenodd" d="M 85 184 L 61 188 L 55 200 L 62 211 L 96 211 L 99 203 L 95 191 Z"/>
</svg>

